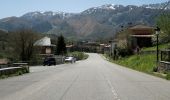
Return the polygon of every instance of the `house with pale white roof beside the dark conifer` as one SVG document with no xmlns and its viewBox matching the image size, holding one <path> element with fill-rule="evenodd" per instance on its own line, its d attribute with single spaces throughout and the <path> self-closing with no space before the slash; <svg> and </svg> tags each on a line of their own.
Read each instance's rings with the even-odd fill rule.
<svg viewBox="0 0 170 100">
<path fill-rule="evenodd" d="M 51 39 L 49 37 L 44 37 L 40 40 L 37 40 L 34 43 L 34 46 L 37 47 L 40 55 L 53 55 L 56 45 L 51 44 Z"/>
</svg>

